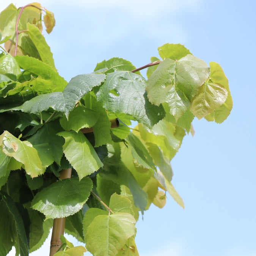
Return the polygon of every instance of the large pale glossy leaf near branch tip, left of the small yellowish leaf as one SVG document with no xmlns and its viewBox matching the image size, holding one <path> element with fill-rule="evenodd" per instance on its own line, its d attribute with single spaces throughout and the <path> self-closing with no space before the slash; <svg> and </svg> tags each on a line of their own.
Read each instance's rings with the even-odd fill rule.
<svg viewBox="0 0 256 256">
<path fill-rule="evenodd" d="M 146 91 L 152 104 L 167 102 L 177 119 L 189 107 L 189 101 L 209 75 L 206 63 L 192 55 L 178 61 L 166 59 L 148 79 Z"/>
</svg>

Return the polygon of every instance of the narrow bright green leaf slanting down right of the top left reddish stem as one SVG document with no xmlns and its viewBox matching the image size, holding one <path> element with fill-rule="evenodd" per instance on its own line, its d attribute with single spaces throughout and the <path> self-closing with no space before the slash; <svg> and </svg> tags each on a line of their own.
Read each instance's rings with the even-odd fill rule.
<svg viewBox="0 0 256 256">
<path fill-rule="evenodd" d="M 52 58 L 52 52 L 50 50 L 50 47 L 46 43 L 46 40 L 44 39 L 44 36 L 41 34 L 39 29 L 32 24 L 27 24 L 28 28 L 28 34 L 30 36 L 30 39 L 35 44 L 36 49 L 39 52 L 41 60 L 52 67 L 53 70 L 57 71 L 54 65 L 54 60 Z"/>
</svg>

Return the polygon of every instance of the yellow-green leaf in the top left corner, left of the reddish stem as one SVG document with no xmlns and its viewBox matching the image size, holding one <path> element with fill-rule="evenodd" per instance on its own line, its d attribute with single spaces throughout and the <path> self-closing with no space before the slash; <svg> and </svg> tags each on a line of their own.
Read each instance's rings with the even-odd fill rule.
<svg viewBox="0 0 256 256">
<path fill-rule="evenodd" d="M 17 16 L 17 8 L 13 5 L 13 3 L 11 3 L 1 12 L 0 31 L 3 37 L 14 35 Z"/>
</svg>

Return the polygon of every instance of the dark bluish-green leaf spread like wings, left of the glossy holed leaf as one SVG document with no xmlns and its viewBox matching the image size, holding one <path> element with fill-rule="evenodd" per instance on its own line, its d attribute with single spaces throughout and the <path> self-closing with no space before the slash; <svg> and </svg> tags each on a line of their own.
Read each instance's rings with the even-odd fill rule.
<svg viewBox="0 0 256 256">
<path fill-rule="evenodd" d="M 54 110 L 65 113 L 68 118 L 69 112 L 75 107 L 76 102 L 94 86 L 101 85 L 104 80 L 104 74 L 77 75 L 71 79 L 63 92 L 38 95 L 25 102 L 19 109 L 27 113 L 40 113 L 52 107 Z"/>
</svg>

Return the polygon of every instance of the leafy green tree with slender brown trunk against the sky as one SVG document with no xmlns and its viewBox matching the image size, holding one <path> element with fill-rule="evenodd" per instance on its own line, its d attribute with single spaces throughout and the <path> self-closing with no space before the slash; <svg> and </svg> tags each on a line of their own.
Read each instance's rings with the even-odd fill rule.
<svg viewBox="0 0 256 256">
<path fill-rule="evenodd" d="M 83 255 L 64 229 L 94 255 L 138 255 L 139 212 L 163 207 L 166 192 L 184 207 L 170 161 L 195 117 L 228 117 L 228 80 L 217 63 L 165 44 L 162 60 L 112 58 L 68 83 L 42 21 L 50 33 L 53 13 L 39 3 L 0 14 L 0 254 L 37 250 L 53 226 L 51 255 Z"/>
</svg>

